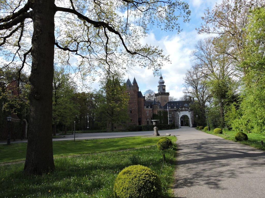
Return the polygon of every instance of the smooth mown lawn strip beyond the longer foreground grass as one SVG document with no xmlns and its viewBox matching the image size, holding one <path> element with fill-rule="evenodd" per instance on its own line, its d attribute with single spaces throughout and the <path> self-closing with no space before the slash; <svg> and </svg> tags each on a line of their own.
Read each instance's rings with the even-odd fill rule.
<svg viewBox="0 0 265 198">
<path fill-rule="evenodd" d="M 175 136 L 168 136 L 172 142 L 176 142 Z M 124 150 L 151 146 L 157 143 L 159 137 L 128 137 L 97 140 L 73 140 L 54 141 L 53 154 L 58 155 L 79 155 L 85 153 L 98 153 L 106 151 Z M 27 143 L 11 143 L 10 145 L 0 144 L 0 163 L 22 161 L 26 157 Z"/>
</svg>

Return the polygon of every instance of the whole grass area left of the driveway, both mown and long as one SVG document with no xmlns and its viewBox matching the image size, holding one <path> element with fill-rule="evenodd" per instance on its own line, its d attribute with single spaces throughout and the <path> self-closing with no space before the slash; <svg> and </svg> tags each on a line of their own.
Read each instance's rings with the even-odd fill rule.
<svg viewBox="0 0 265 198">
<path fill-rule="evenodd" d="M 170 136 L 173 142 L 175 136 Z M 139 164 L 155 171 L 161 178 L 163 197 L 172 197 L 176 145 L 161 152 L 159 138 L 116 138 L 54 142 L 55 171 L 42 176 L 25 176 L 24 163 L 0 165 L 1 197 L 113 197 L 113 184 L 118 173 L 133 165 L 129 158 L 139 156 Z M 19 145 L 19 146 L 18 146 Z M 3 157 L 25 149 L 26 144 L 0 145 L 1 161 L 23 159 Z M 17 148 L 16 148 L 17 147 Z M 12 148 L 12 151 L 8 151 Z M 17 150 L 16 150 L 17 149 Z M 126 150 L 124 150 L 126 149 Z M 161 169 L 163 155 L 166 163 Z M 24 153 L 25 154 L 25 153 Z M 6 156 L 6 154 L 5 154 Z"/>
</svg>

